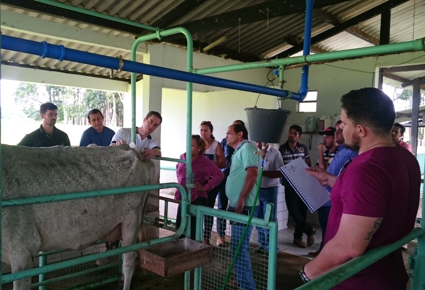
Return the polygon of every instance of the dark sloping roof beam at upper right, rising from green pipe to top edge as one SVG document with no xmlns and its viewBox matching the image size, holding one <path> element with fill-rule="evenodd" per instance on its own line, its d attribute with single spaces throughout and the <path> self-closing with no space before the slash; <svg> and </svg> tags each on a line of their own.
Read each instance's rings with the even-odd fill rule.
<svg viewBox="0 0 425 290">
<path fill-rule="evenodd" d="M 325 39 L 328 39 L 332 36 L 335 36 L 335 35 L 343 32 L 343 31 L 347 30 L 348 28 L 350 28 L 352 26 L 355 26 L 359 23 L 362 23 L 362 22 L 364 22 L 368 19 L 374 18 L 377 15 L 381 15 L 381 12 L 384 9 L 387 9 L 387 8 L 392 9 L 392 8 L 397 7 L 397 6 L 403 4 L 407 1 L 409 1 L 409 0 L 389 0 L 389 1 L 387 1 L 383 4 L 380 4 L 380 5 L 378 5 L 374 8 L 366 11 L 366 12 L 363 12 L 363 13 L 357 15 L 357 16 L 354 16 L 353 18 L 351 18 L 347 21 L 344 21 L 341 24 L 336 25 L 335 27 L 332 27 L 332 28 L 330 28 L 330 29 L 328 29 L 328 30 L 316 35 L 316 36 L 313 36 L 312 39 L 311 39 L 311 43 L 317 44 L 317 43 L 319 43 L 319 42 L 321 42 Z M 287 56 L 290 56 L 292 54 L 295 54 L 295 53 L 302 50 L 302 46 L 303 46 L 302 43 L 295 45 L 294 47 L 291 47 L 291 48 L 277 54 L 277 57 L 279 57 L 279 58 L 280 57 L 287 57 Z M 273 56 L 273 57 L 276 57 L 276 55 Z"/>
</svg>

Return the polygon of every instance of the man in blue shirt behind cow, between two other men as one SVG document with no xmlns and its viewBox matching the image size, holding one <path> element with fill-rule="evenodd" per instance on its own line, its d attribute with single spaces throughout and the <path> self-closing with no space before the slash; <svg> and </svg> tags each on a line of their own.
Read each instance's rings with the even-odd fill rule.
<svg viewBox="0 0 425 290">
<path fill-rule="evenodd" d="M 83 132 L 80 140 L 80 147 L 87 147 L 89 144 L 96 144 L 97 146 L 109 146 L 114 130 L 103 126 L 103 115 L 98 109 L 90 110 L 87 114 L 90 128 Z"/>
</svg>

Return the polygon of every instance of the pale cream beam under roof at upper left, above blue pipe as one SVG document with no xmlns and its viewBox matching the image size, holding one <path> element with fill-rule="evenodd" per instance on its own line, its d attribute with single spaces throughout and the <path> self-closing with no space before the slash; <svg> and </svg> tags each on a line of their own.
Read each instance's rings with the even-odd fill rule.
<svg viewBox="0 0 425 290">
<path fill-rule="evenodd" d="M 126 52 L 132 51 L 134 43 L 134 40 L 129 37 L 81 29 L 8 10 L 2 10 L 2 29 Z M 146 54 L 147 44 L 141 43 L 137 48 L 137 53 Z"/>
</svg>

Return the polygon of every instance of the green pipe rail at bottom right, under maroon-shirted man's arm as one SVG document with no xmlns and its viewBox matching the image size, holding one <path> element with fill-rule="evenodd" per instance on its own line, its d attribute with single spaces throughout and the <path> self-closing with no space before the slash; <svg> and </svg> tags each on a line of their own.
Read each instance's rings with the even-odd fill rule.
<svg viewBox="0 0 425 290">
<path fill-rule="evenodd" d="M 382 259 L 388 254 L 400 249 L 400 247 L 404 244 L 412 241 L 415 238 L 423 237 L 424 233 L 425 231 L 423 229 L 414 228 L 407 236 L 398 240 L 397 242 L 369 250 L 365 254 L 355 257 L 354 259 L 342 264 L 332 271 L 329 271 L 326 274 L 296 288 L 296 290 L 330 289 L 331 287 L 341 283 L 360 270 L 372 265 L 379 259 Z M 423 271 L 421 272 L 421 275 L 423 275 Z"/>
</svg>

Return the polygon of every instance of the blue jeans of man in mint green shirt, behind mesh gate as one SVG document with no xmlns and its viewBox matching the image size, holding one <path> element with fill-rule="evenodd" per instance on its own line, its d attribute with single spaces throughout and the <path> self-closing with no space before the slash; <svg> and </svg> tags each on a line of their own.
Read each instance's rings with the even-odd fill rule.
<svg viewBox="0 0 425 290">
<path fill-rule="evenodd" d="M 234 208 L 234 207 L 230 207 Z M 245 206 L 244 209 L 248 209 L 251 213 L 252 206 Z M 254 217 L 257 216 L 260 206 L 254 207 Z M 231 249 L 232 254 L 236 253 L 237 245 L 239 244 L 242 233 L 244 233 L 245 225 L 239 223 L 231 223 L 232 238 L 231 238 Z M 255 280 L 253 278 L 253 271 L 251 268 L 250 259 L 250 238 L 253 226 L 250 226 L 247 230 L 247 234 L 244 237 L 242 244 L 240 245 L 239 253 L 236 256 L 234 262 L 234 273 L 236 275 L 237 283 L 242 290 L 255 290 Z"/>
</svg>

